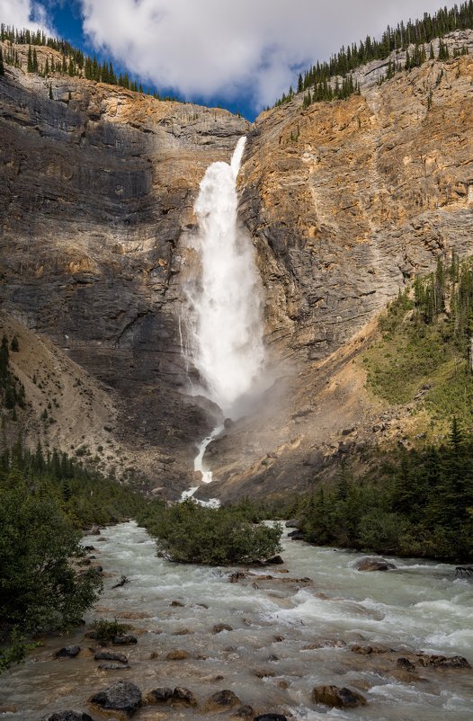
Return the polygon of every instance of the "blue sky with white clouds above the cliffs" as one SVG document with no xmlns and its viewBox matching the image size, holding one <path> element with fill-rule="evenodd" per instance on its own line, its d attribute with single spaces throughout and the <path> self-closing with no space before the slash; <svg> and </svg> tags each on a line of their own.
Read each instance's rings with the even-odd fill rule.
<svg viewBox="0 0 473 721">
<path fill-rule="evenodd" d="M 342 45 L 445 0 L 0 0 L 0 22 L 40 26 L 143 85 L 248 120 Z"/>
</svg>

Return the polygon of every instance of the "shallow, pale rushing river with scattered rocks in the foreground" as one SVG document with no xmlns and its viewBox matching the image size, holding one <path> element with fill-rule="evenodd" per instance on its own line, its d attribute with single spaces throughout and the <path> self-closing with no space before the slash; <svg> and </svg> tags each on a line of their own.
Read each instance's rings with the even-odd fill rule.
<svg viewBox="0 0 473 721">
<path fill-rule="evenodd" d="M 233 690 L 255 714 L 307 721 L 471 721 L 472 670 L 418 667 L 408 673 L 396 666 L 398 657 L 414 658 L 420 650 L 461 654 L 473 664 L 473 583 L 455 579 L 451 565 L 393 559 L 396 571 L 361 573 L 354 569 L 359 554 L 285 540 L 284 566 L 251 569 L 254 576 L 230 583 L 233 569 L 157 558 L 154 541 L 134 523 L 84 542 L 94 545 L 104 570 L 114 574 L 105 578 L 99 605 L 86 620 L 132 619 L 138 645 L 116 648 L 128 655 L 131 667 L 99 670 L 88 650 L 93 642 L 83 631 L 49 638 L 2 677 L 0 706 L 17 708 L 5 719 L 38 721 L 66 708 L 88 710 L 98 719 L 87 708 L 88 697 L 127 679 L 144 693 L 184 686 L 199 700 L 193 709 L 142 708 L 137 721 L 208 718 L 213 714 L 200 709 L 222 689 Z M 129 583 L 112 590 L 122 574 Z M 216 624 L 232 630 L 214 633 Z M 54 657 L 72 643 L 83 649 L 75 659 Z M 355 644 L 395 651 L 357 654 L 351 650 Z M 167 661 L 166 654 L 177 649 L 189 657 Z M 368 705 L 315 706 L 310 691 L 320 684 L 360 690 Z"/>
</svg>

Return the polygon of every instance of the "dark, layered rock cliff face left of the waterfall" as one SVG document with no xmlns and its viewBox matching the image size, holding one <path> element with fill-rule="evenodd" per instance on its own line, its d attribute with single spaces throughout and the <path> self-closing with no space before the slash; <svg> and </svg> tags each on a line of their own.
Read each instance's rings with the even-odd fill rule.
<svg viewBox="0 0 473 721">
<path fill-rule="evenodd" d="M 189 485 L 192 442 L 210 420 L 182 393 L 178 245 L 205 169 L 228 160 L 248 123 L 10 67 L 0 106 L 4 314 L 109 389 L 123 450 L 113 465 Z M 63 441 L 103 445 L 67 430 Z"/>
</svg>

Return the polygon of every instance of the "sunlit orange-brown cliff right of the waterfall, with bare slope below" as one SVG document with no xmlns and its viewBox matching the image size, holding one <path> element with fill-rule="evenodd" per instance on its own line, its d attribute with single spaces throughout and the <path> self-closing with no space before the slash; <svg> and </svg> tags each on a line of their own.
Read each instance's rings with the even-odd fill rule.
<svg viewBox="0 0 473 721">
<path fill-rule="evenodd" d="M 406 439 L 408 414 L 368 395 L 357 359 L 406 280 L 452 248 L 473 251 L 472 82 L 471 58 L 433 61 L 365 82 L 345 102 L 303 110 L 297 96 L 256 121 L 241 214 L 258 251 L 269 354 L 292 369 L 273 387 L 283 402 L 265 398 L 260 417 L 210 447 L 213 494 L 307 486 L 382 441 L 387 419 L 391 441 Z"/>
</svg>

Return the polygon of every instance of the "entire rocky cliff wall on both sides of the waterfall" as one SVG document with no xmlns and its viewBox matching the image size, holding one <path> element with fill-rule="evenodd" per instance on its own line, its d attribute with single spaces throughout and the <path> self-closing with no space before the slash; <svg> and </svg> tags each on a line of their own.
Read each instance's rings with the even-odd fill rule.
<svg viewBox="0 0 473 721">
<path fill-rule="evenodd" d="M 184 392 L 183 235 L 206 167 L 228 160 L 248 131 L 240 213 L 263 278 L 268 354 L 284 379 L 266 416 L 210 446 L 212 494 L 299 487 L 369 442 L 384 410 L 352 362 L 367 324 L 438 254 L 471 253 L 473 60 L 429 62 L 307 110 L 297 96 L 251 130 L 227 111 L 6 72 L 3 312 L 47 336 L 110 398 L 120 450 L 104 467 L 134 467 L 171 495 L 190 485 L 193 443 L 211 420 Z M 93 451 L 99 425 L 81 432 Z M 81 436 L 67 426 L 55 441 L 68 448 Z"/>
</svg>

